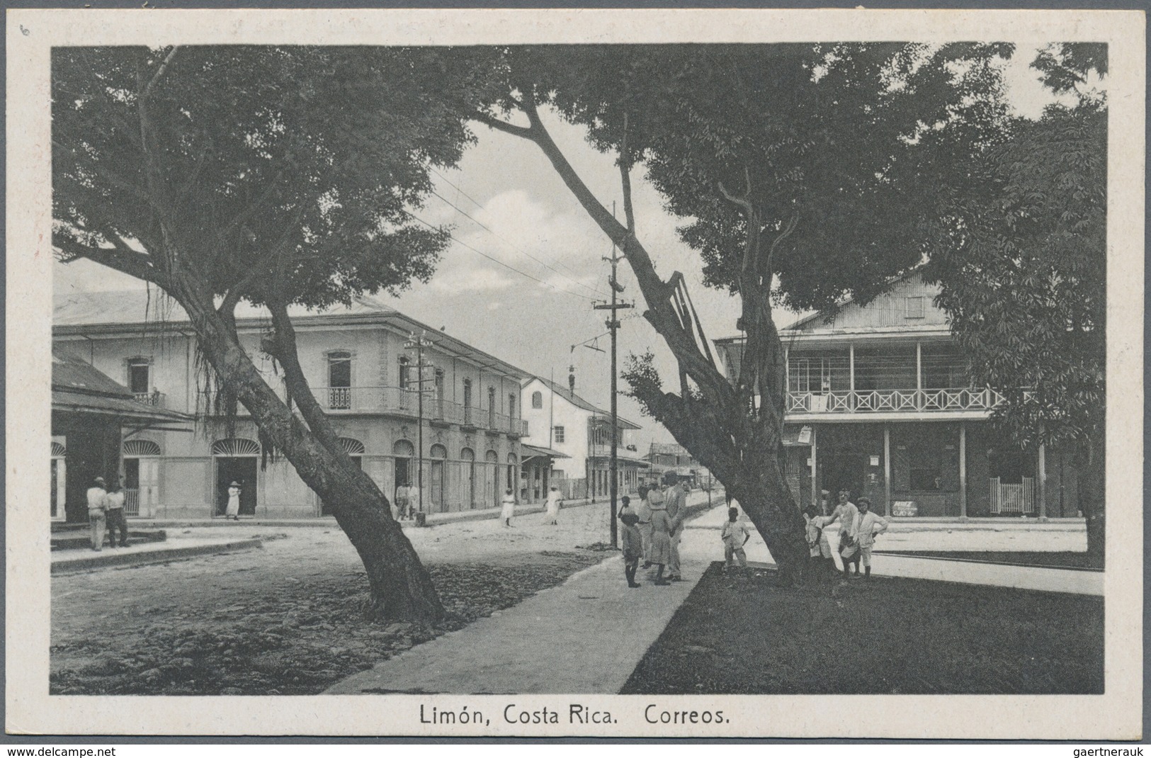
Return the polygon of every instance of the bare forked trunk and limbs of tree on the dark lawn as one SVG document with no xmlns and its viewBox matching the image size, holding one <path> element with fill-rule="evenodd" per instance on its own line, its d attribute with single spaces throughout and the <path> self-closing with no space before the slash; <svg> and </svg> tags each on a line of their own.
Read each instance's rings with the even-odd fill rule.
<svg viewBox="0 0 1151 758">
<path fill-rule="evenodd" d="M 648 310 L 643 317 L 671 349 L 680 371 L 680 393 L 665 393 L 658 379 L 638 372 L 630 377 L 632 392 L 650 415 L 672 433 L 677 441 L 724 484 L 739 500 L 745 513 L 763 537 L 785 583 L 802 582 L 807 575 L 808 547 L 803 518 L 791 497 L 779 465 L 783 437 L 784 361 L 783 347 L 771 319 L 771 251 L 761 244 L 760 214 L 748 198 L 731 198 L 747 217 L 747 241 L 740 294 L 742 321 L 747 329 L 745 365 L 734 386 L 718 370 L 710 348 L 699 333 L 693 316 L 678 306 L 683 278 L 674 274 L 664 281 L 655 272 L 651 257 L 635 236 L 631 180 L 631 156 L 626 143 L 620 151 L 619 169 L 627 226 L 616 220 L 593 195 L 551 139 L 536 109 L 531 85 L 521 88 L 521 107 L 527 127 L 475 113 L 481 123 L 535 143 L 551 161 L 556 173 L 600 228 L 624 252 L 632 267 Z M 750 176 L 747 177 L 750 183 Z M 776 243 L 794 229 L 795 220 L 777 235 Z M 699 334 L 699 339 L 696 338 Z M 694 382 L 694 387 L 688 384 Z M 763 397 L 753 408 L 755 394 Z"/>
</svg>

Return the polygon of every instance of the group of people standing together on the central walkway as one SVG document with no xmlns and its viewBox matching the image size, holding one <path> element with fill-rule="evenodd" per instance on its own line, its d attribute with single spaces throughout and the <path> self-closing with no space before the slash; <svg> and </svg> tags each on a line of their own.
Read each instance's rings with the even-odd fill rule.
<svg viewBox="0 0 1151 758">
<path fill-rule="evenodd" d="M 638 492 L 640 502 L 635 509 L 631 507 L 631 498 L 620 499 L 619 521 L 624 524 L 622 547 L 627 586 L 640 586 L 635 581 L 640 560 L 648 569 L 653 584 L 666 586 L 681 582 L 679 539 L 684 533 L 687 491 L 674 473 L 669 473 L 664 476 L 662 486 L 645 485 Z"/>
</svg>

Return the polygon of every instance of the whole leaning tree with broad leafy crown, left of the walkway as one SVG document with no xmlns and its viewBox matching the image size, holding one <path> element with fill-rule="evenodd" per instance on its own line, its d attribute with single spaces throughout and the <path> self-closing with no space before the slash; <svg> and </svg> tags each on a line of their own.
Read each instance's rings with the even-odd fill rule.
<svg viewBox="0 0 1151 758">
<path fill-rule="evenodd" d="M 53 243 L 136 276 L 186 311 L 233 408 L 331 508 L 379 616 L 443 608 L 383 493 L 313 397 L 288 306 L 348 303 L 427 279 L 448 242 L 407 209 L 471 141 L 460 104 L 481 88 L 429 52 L 317 47 L 53 51 Z M 264 341 L 289 400 L 237 339 L 239 301 L 265 305 Z M 298 412 L 294 411 L 292 404 Z"/>
</svg>

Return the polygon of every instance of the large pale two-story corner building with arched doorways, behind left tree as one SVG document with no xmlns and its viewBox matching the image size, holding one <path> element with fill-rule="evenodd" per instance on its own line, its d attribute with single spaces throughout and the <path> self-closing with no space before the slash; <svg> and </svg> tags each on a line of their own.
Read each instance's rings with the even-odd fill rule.
<svg viewBox="0 0 1151 758">
<path fill-rule="evenodd" d="M 389 498 L 401 484 L 417 485 L 425 511 L 467 510 L 497 507 L 505 488 L 518 487 L 526 372 L 368 297 L 291 314 L 313 394 L 341 445 Z M 277 366 L 260 349 L 270 317 L 247 304 L 236 316 L 242 344 L 284 396 Z M 139 402 L 196 419 L 192 434 L 140 430 L 124 440 L 129 515 L 219 515 L 233 480 L 243 486 L 242 515 L 325 514 L 290 463 L 265 455 L 243 405 L 229 419 L 219 395 L 206 392 L 209 369 L 197 355 L 186 314 L 167 298 L 67 295 L 55 303 L 53 343 L 127 386 Z"/>
</svg>

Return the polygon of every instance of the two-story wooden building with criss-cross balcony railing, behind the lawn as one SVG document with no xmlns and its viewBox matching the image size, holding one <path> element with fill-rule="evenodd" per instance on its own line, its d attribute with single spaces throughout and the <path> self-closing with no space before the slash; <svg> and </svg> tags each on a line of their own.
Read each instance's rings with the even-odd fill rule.
<svg viewBox="0 0 1151 758">
<path fill-rule="evenodd" d="M 988 423 L 1003 397 L 969 380 L 937 294 L 912 272 L 867 305 L 780 329 L 793 497 L 849 490 L 894 516 L 1080 515 L 1070 452 L 1020 449 Z M 742 338 L 717 347 L 734 377 Z"/>
</svg>

